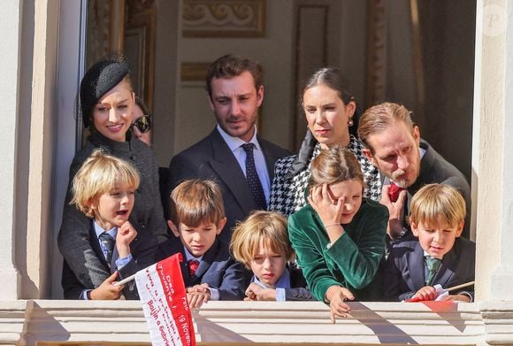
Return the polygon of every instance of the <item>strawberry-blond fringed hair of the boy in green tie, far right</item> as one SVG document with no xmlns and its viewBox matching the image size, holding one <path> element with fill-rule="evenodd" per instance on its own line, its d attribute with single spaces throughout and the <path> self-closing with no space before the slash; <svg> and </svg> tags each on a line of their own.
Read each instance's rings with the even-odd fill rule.
<svg viewBox="0 0 513 346">
<path fill-rule="evenodd" d="M 433 227 L 443 221 L 455 227 L 465 219 L 465 200 L 452 186 L 428 184 L 419 189 L 411 199 L 410 221 Z"/>
</svg>

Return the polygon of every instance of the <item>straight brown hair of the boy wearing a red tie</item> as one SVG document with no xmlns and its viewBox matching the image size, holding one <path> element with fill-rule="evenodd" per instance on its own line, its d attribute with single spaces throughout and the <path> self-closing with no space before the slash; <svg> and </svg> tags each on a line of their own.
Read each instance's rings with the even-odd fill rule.
<svg viewBox="0 0 513 346">
<path fill-rule="evenodd" d="M 202 222 L 216 226 L 225 219 L 223 195 L 214 181 L 183 181 L 172 190 L 169 215 L 178 227 L 180 222 L 188 227 L 198 227 Z"/>
</svg>

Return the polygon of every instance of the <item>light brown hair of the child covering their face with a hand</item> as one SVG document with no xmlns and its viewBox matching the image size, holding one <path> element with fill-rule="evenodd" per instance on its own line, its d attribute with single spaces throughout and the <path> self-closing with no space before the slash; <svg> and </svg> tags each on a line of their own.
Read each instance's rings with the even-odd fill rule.
<svg viewBox="0 0 513 346">
<path fill-rule="evenodd" d="M 318 157 L 311 161 L 310 188 L 350 180 L 360 181 L 364 186 L 360 163 L 355 154 L 343 145 L 321 150 Z"/>
</svg>

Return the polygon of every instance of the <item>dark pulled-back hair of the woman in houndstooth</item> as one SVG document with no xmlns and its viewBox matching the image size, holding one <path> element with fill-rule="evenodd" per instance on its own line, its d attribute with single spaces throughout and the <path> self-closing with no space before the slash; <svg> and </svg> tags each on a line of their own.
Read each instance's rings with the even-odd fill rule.
<svg viewBox="0 0 513 346">
<path fill-rule="evenodd" d="M 342 100 L 344 104 L 349 104 L 349 102 L 353 101 L 356 104 L 355 97 L 351 92 L 351 88 L 349 87 L 348 81 L 346 81 L 342 77 L 341 70 L 337 67 L 323 67 L 313 73 L 311 77 L 304 83 L 304 88 L 302 88 L 302 95 L 299 102 L 300 110 L 304 113 L 302 109 L 302 96 L 309 88 L 317 87 L 318 85 L 325 85 L 328 88 L 331 88 L 337 92 L 337 95 Z M 358 128 L 358 121 L 362 116 L 362 111 L 356 104 L 355 114 L 351 118 L 353 120 L 353 126 L 349 127 L 349 134 L 358 136 L 356 130 Z"/>
</svg>

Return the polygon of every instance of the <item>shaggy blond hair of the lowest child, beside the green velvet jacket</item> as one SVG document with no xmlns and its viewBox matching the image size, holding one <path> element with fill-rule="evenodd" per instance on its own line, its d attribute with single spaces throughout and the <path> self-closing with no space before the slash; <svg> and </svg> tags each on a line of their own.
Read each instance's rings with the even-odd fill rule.
<svg viewBox="0 0 513 346">
<path fill-rule="evenodd" d="M 234 229 L 230 249 L 234 258 L 250 269 L 249 263 L 257 254 L 260 243 L 269 246 L 277 254 L 287 259 L 294 255 L 288 239 L 287 219 L 279 212 L 255 211 L 248 219 Z"/>
</svg>

